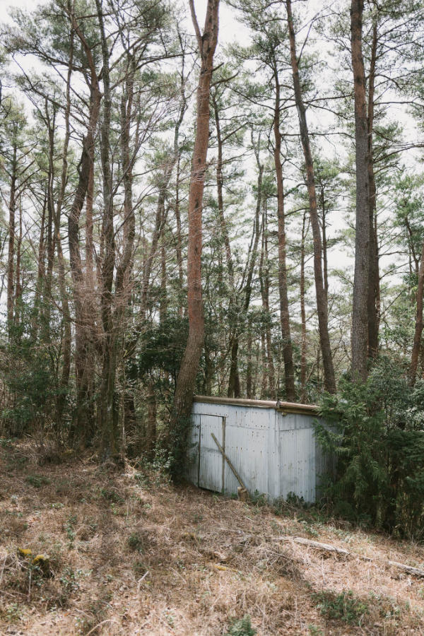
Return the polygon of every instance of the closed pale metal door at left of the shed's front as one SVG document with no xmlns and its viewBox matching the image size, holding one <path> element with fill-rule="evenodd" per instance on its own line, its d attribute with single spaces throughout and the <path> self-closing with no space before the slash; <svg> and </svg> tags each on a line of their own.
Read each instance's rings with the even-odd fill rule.
<svg viewBox="0 0 424 636">
<path fill-rule="evenodd" d="M 201 413 L 199 486 L 221 492 L 224 486 L 223 456 L 211 433 L 225 449 L 225 418 Z"/>
</svg>

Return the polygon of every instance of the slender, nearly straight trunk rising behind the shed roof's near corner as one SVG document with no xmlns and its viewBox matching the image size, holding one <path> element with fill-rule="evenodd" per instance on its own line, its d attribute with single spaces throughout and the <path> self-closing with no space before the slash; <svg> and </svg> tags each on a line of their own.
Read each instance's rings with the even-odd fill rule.
<svg viewBox="0 0 424 636">
<path fill-rule="evenodd" d="M 280 132 L 280 82 L 278 69 L 274 66 L 276 100 L 273 114 L 274 163 L 277 179 L 277 216 L 278 216 L 278 291 L 280 293 L 281 337 L 283 340 L 284 387 L 285 399 L 295 401 L 295 365 L 293 364 L 293 346 L 290 335 L 290 310 L 288 307 L 287 264 L 285 246 L 285 211 L 283 165 L 281 164 L 281 132 Z"/>
</svg>

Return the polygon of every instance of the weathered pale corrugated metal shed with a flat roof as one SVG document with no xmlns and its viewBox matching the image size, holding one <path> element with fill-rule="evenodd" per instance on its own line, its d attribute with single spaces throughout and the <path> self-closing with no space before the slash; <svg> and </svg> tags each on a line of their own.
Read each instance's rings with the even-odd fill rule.
<svg viewBox="0 0 424 636">
<path fill-rule="evenodd" d="M 215 436 L 249 493 L 270 500 L 294 493 L 315 502 L 328 467 L 314 437 L 317 416 L 317 406 L 306 404 L 195 396 L 187 478 L 200 488 L 237 493 Z"/>
</svg>

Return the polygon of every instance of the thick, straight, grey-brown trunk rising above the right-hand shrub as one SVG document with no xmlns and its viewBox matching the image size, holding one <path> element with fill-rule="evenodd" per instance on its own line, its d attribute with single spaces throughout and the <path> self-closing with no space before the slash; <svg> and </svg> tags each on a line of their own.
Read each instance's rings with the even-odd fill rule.
<svg viewBox="0 0 424 636">
<path fill-rule="evenodd" d="M 368 278 L 370 273 L 370 183 L 367 100 L 362 50 L 363 0 L 351 3 L 351 47 L 355 95 L 356 225 L 352 314 L 353 379 L 367 379 Z"/>
</svg>

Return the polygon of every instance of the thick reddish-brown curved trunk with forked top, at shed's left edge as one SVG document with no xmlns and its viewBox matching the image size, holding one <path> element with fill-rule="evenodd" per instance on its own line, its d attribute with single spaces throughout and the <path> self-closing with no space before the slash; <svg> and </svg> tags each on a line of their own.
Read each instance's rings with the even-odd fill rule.
<svg viewBox="0 0 424 636">
<path fill-rule="evenodd" d="M 201 35 L 194 11 L 194 0 L 189 0 L 201 58 L 199 86 L 197 88 L 196 138 L 192 159 L 192 175 L 189 191 L 189 245 L 187 252 L 187 287 L 189 312 L 189 337 L 184 351 L 177 386 L 175 388 L 172 428 L 175 442 L 182 449 L 178 461 L 184 460 L 187 422 L 192 410 L 193 392 L 204 345 L 204 312 L 201 295 L 201 212 L 203 204 L 206 155 L 209 139 L 209 95 L 213 71 L 213 54 L 218 42 L 219 0 L 208 0 L 204 33 Z M 177 466 L 177 464 L 176 464 Z"/>
</svg>

